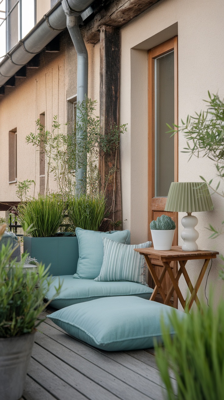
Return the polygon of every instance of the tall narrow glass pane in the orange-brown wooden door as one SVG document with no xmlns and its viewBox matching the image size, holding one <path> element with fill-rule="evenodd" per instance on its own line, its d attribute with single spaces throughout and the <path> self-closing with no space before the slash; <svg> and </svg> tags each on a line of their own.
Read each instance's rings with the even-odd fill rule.
<svg viewBox="0 0 224 400">
<path fill-rule="evenodd" d="M 174 181 L 174 52 L 155 59 L 155 196 L 166 197 Z"/>
</svg>

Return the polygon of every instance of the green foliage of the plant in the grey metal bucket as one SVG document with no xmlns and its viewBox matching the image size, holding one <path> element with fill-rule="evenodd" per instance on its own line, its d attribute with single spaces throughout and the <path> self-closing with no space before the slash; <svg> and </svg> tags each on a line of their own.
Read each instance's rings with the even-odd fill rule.
<svg viewBox="0 0 224 400">
<path fill-rule="evenodd" d="M 0 338 L 10 338 L 30 333 L 42 320 L 40 313 L 46 308 L 44 297 L 51 284 L 51 278 L 46 281 L 48 268 L 38 266 L 38 274 L 28 271 L 23 273 L 22 261 L 10 262 L 12 244 L 3 244 L 0 250 Z M 57 294 L 61 285 L 56 288 Z"/>
</svg>

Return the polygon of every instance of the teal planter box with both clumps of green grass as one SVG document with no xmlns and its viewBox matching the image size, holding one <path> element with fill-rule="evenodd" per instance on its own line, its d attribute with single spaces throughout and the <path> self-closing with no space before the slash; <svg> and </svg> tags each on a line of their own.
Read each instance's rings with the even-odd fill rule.
<svg viewBox="0 0 224 400">
<path fill-rule="evenodd" d="M 53 276 L 73 275 L 79 258 L 75 228 L 99 230 L 105 214 L 103 194 L 81 194 L 63 200 L 59 194 L 39 195 L 18 207 L 21 224 L 32 226 L 24 236 L 24 252 L 45 265 L 51 264 Z M 64 219 L 72 232 L 59 232 Z"/>
</svg>

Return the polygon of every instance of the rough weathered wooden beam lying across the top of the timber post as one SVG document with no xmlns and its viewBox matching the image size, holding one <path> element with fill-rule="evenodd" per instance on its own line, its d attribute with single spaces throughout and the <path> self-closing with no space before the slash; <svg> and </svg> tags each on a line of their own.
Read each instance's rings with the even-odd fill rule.
<svg viewBox="0 0 224 400">
<path fill-rule="evenodd" d="M 87 43 L 99 42 L 99 29 L 103 25 L 120 28 L 160 0 L 105 1 L 103 9 L 85 26 Z"/>
</svg>

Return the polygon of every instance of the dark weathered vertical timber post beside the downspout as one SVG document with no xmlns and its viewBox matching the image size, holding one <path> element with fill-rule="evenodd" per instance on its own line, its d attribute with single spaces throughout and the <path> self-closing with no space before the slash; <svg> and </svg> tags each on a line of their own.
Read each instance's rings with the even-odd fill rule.
<svg viewBox="0 0 224 400">
<path fill-rule="evenodd" d="M 112 26 L 100 30 L 100 122 L 102 133 L 109 134 L 110 127 L 119 125 L 119 73 L 120 36 Z M 111 171 L 115 172 L 111 175 Z M 121 220 L 121 179 L 119 148 L 111 154 L 99 155 L 101 187 L 105 188 L 108 218 L 113 222 Z M 119 229 L 119 228 L 116 228 Z"/>
</svg>

